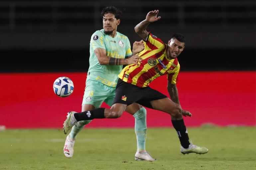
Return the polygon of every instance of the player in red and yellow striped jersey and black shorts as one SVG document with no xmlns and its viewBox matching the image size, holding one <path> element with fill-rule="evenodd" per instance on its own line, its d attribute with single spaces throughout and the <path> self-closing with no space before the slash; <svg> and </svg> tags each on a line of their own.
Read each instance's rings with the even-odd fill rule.
<svg viewBox="0 0 256 170">
<path fill-rule="evenodd" d="M 161 17 L 157 17 L 158 10 L 150 11 L 146 19 L 135 27 L 135 32 L 144 40 L 145 49 L 139 53 L 142 58 L 140 65 L 126 66 L 118 75 L 116 94 L 110 109 L 98 108 L 81 113 L 69 112 L 64 122 L 64 130 L 68 131 L 76 122 L 100 118 L 118 118 L 125 108 L 132 103 L 139 103 L 145 107 L 166 112 L 171 115 L 172 124 L 181 142 L 181 152 L 204 154 L 205 147 L 193 145 L 183 121 L 183 116 L 192 116 L 180 105 L 178 89 L 176 87 L 180 64 L 177 57 L 185 48 L 185 38 L 181 34 L 174 34 L 165 44 L 161 39 L 146 30 L 147 26 Z M 150 88 L 148 85 L 156 78 L 167 75 L 169 99 L 166 95 Z"/>
</svg>

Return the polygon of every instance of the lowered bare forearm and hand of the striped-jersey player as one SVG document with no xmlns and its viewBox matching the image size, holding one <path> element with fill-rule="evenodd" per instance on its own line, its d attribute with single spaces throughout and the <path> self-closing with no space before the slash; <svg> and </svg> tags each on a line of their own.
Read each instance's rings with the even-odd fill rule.
<svg viewBox="0 0 256 170">
<path fill-rule="evenodd" d="M 178 89 L 177 89 L 176 85 L 173 85 L 170 82 L 168 82 L 167 89 L 170 94 L 171 100 L 177 104 L 180 104 Z M 183 110 L 183 109 L 182 109 L 182 115 L 185 117 L 192 116 L 192 114 L 189 111 Z"/>
</svg>

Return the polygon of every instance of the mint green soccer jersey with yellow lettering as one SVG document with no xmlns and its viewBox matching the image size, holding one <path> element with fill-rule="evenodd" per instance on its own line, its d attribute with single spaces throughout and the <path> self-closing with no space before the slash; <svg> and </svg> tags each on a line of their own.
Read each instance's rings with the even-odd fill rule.
<svg viewBox="0 0 256 170">
<path fill-rule="evenodd" d="M 104 33 L 104 29 L 97 30 L 90 40 L 90 58 L 87 79 L 94 79 L 111 87 L 115 87 L 118 74 L 122 71 L 123 65 L 100 65 L 94 53 L 96 48 L 103 48 L 106 54 L 113 58 L 125 58 L 132 55 L 130 41 L 127 36 L 116 32 L 112 38 Z"/>
</svg>

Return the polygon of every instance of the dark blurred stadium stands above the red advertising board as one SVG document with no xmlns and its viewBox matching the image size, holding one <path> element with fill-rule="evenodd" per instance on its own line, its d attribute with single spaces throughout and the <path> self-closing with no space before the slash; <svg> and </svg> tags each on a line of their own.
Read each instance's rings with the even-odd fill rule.
<svg viewBox="0 0 256 170">
<path fill-rule="evenodd" d="M 254 0 L 13 0 L 0 1 L 0 72 L 87 71 L 90 36 L 109 5 L 123 10 L 118 31 L 131 43 L 136 24 L 159 9 L 162 19 L 148 30 L 165 42 L 186 36 L 182 70 L 255 70 Z"/>
</svg>

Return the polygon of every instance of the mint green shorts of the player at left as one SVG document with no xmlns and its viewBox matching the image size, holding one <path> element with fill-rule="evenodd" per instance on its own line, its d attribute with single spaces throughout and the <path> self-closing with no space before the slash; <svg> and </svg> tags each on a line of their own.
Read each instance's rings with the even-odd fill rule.
<svg viewBox="0 0 256 170">
<path fill-rule="evenodd" d="M 82 104 L 91 104 L 99 108 L 103 101 L 112 106 L 115 97 L 115 87 L 104 85 L 96 80 L 87 79 Z"/>
</svg>

